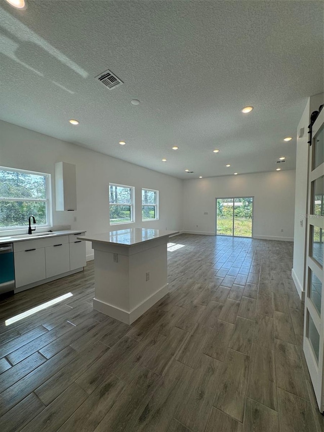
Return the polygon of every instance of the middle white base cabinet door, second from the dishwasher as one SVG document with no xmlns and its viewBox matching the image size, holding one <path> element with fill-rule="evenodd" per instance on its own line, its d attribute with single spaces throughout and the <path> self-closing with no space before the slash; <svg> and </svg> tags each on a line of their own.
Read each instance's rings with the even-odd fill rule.
<svg viewBox="0 0 324 432">
<path fill-rule="evenodd" d="M 45 248 L 46 277 L 51 278 L 56 274 L 70 270 L 69 244 L 58 243 Z"/>
</svg>

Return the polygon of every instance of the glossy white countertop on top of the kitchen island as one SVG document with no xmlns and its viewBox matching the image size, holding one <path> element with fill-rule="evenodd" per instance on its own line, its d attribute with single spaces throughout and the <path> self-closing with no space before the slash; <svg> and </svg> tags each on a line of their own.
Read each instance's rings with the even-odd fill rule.
<svg viewBox="0 0 324 432">
<path fill-rule="evenodd" d="M 131 247 L 152 240 L 170 237 L 170 235 L 175 234 L 179 234 L 179 231 L 166 231 L 164 229 L 151 228 L 128 228 L 118 229 L 117 231 L 101 232 L 98 234 L 87 234 L 83 237 L 77 237 L 77 239 L 86 240 L 88 242 Z"/>
</svg>

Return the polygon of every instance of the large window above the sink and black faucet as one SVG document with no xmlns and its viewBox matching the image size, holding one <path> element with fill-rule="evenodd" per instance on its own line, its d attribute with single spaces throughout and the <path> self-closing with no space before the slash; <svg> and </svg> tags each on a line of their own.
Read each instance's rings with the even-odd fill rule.
<svg viewBox="0 0 324 432">
<path fill-rule="evenodd" d="M 51 223 L 50 174 L 0 167 L 0 230 Z"/>
</svg>

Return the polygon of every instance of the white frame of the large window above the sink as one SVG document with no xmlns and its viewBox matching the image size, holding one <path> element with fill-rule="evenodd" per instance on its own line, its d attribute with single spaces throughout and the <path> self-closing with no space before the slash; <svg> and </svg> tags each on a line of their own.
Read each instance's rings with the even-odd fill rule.
<svg viewBox="0 0 324 432">
<path fill-rule="evenodd" d="M 37 217 L 35 226 L 37 228 L 47 228 L 52 227 L 52 178 L 51 174 L 49 173 L 41 173 L 38 171 L 29 171 L 29 170 L 21 170 L 18 168 L 10 168 L 10 167 L 2 167 L 0 166 L 0 170 L 2 171 L 10 171 L 10 172 L 16 172 L 16 173 L 24 173 L 24 174 L 31 174 L 31 175 L 39 175 L 45 177 L 45 188 L 46 188 L 46 199 L 33 199 L 33 198 L 3 198 L 0 197 L 1 201 L 13 201 L 13 202 L 31 202 L 31 203 L 46 203 L 46 224 L 39 224 L 37 223 Z M 7 226 L 0 226 L 0 232 L 5 231 L 15 231 L 15 230 L 21 230 L 26 229 L 28 227 L 28 223 L 26 225 L 7 225 Z"/>
</svg>

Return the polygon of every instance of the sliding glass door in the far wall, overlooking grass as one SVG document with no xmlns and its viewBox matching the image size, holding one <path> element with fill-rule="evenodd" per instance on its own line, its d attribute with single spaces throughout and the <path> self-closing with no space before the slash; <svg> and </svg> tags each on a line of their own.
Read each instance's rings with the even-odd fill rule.
<svg viewBox="0 0 324 432">
<path fill-rule="evenodd" d="M 252 237 L 253 197 L 216 199 L 216 234 Z"/>
</svg>

